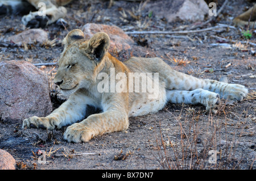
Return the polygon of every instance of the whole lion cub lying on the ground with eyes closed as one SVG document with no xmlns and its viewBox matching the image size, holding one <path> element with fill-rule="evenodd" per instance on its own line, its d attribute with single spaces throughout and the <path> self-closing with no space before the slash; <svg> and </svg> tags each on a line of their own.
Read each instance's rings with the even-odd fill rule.
<svg viewBox="0 0 256 181">
<path fill-rule="evenodd" d="M 108 53 L 110 39 L 104 32 L 86 41 L 81 30 L 72 30 L 63 42 L 54 82 L 69 98 L 46 117 L 25 119 L 23 128 L 55 129 L 72 124 L 64 133 L 68 142 L 126 130 L 129 116 L 155 113 L 167 102 L 200 103 L 216 113 L 220 98 L 241 101 L 248 92 L 241 85 L 180 73 L 160 58 L 131 57 L 121 62 Z M 88 106 L 102 112 L 84 119 Z"/>
</svg>

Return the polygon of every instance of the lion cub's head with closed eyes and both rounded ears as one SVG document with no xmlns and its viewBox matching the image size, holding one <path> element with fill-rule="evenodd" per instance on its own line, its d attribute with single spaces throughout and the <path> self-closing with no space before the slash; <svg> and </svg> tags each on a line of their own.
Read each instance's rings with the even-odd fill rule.
<svg viewBox="0 0 256 181">
<path fill-rule="evenodd" d="M 72 30 L 65 37 L 64 50 L 59 59 L 59 68 L 54 83 L 65 95 L 78 89 L 88 89 L 96 81 L 97 68 L 104 61 L 110 39 L 98 32 L 89 40 L 81 30 Z"/>
</svg>

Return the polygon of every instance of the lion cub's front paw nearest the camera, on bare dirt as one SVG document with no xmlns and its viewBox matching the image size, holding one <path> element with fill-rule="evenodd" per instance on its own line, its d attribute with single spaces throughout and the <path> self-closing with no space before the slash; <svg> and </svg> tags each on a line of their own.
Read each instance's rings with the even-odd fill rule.
<svg viewBox="0 0 256 181">
<path fill-rule="evenodd" d="M 94 136 L 93 131 L 81 123 L 74 123 L 67 128 L 64 139 L 68 142 L 86 142 Z"/>
</svg>

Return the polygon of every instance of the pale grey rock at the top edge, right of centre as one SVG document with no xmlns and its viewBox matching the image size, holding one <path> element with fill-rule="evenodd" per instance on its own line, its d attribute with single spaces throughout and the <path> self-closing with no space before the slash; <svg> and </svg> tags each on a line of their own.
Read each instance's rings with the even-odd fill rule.
<svg viewBox="0 0 256 181">
<path fill-rule="evenodd" d="M 195 22 L 204 20 L 208 14 L 209 7 L 204 0 L 172 0 L 172 1 L 152 1 L 145 7 L 147 11 L 153 11 L 157 16 L 162 16 L 168 22 L 177 19 Z"/>
</svg>

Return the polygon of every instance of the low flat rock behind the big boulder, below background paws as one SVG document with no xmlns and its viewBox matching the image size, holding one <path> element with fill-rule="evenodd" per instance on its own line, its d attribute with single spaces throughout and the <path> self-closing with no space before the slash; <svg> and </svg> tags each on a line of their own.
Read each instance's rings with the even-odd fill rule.
<svg viewBox="0 0 256 181">
<path fill-rule="evenodd" d="M 7 38 L 7 41 L 13 42 L 17 45 L 44 43 L 48 39 L 48 33 L 42 29 L 30 29 L 13 35 Z"/>
</svg>

